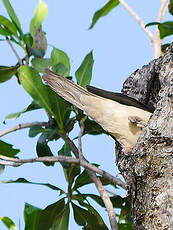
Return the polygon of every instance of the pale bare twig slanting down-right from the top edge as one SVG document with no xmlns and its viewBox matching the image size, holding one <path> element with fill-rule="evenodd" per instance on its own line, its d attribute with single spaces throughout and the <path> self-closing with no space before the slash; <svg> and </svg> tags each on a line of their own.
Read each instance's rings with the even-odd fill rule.
<svg viewBox="0 0 173 230">
<path fill-rule="evenodd" d="M 124 0 L 119 0 L 120 3 L 124 6 L 124 8 L 136 19 L 136 21 L 139 23 L 141 28 L 145 31 L 145 33 L 148 35 L 150 40 L 153 40 L 153 34 L 152 32 L 145 27 L 145 23 L 143 22 L 142 18 L 140 18 L 137 13 L 124 1 Z"/>
</svg>

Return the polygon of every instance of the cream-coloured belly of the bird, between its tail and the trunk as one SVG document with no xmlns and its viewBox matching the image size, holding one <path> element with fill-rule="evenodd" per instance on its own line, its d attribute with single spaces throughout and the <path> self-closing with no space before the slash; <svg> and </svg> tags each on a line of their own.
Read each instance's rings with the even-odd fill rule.
<svg viewBox="0 0 173 230">
<path fill-rule="evenodd" d="M 140 127 L 129 121 L 129 116 L 138 116 L 146 123 L 150 117 L 147 111 L 101 97 L 84 96 L 81 101 L 84 111 L 125 148 L 132 148 L 142 132 Z"/>
</svg>

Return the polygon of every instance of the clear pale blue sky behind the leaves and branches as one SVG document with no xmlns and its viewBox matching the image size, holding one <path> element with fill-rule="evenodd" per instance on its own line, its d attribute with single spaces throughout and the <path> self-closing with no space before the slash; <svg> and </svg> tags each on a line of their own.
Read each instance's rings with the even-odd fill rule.
<svg viewBox="0 0 173 230">
<path fill-rule="evenodd" d="M 28 32 L 30 19 L 38 1 L 30 0 L 23 4 L 19 0 L 11 2 L 13 2 L 23 30 Z M 85 55 L 93 50 L 95 62 L 91 85 L 119 92 L 123 81 L 133 71 L 152 60 L 152 49 L 148 37 L 121 5 L 108 16 L 100 19 L 92 30 L 88 30 L 94 12 L 107 1 L 45 0 L 45 2 L 48 5 L 48 15 L 43 24 L 43 30 L 47 33 L 48 43 L 65 51 L 70 57 L 72 76 Z M 128 2 L 146 24 L 156 21 L 160 1 L 134 0 Z M 0 1 L 0 14 L 7 15 L 2 1 Z M 171 16 L 167 15 L 165 19 L 171 20 Z M 18 48 L 16 49 L 19 55 L 23 56 L 22 52 Z M 50 51 L 51 46 L 48 48 L 47 55 L 50 54 Z M 16 62 L 16 57 L 8 44 L 0 42 L 0 65 L 13 65 Z M 20 111 L 31 102 L 30 96 L 25 93 L 22 86 L 17 84 L 15 77 L 0 85 L 0 98 L 1 131 L 22 122 L 47 120 L 43 111 L 36 111 L 25 114 L 17 120 L 7 121 L 7 124 L 3 125 L 2 122 L 7 114 Z M 77 132 L 76 127 L 74 135 Z M 21 149 L 19 154 L 21 158 L 31 158 L 35 156 L 37 138 L 30 139 L 28 130 L 21 130 L 3 137 L 2 140 Z M 60 149 L 61 146 L 61 141 L 52 144 L 54 150 Z M 85 136 L 83 149 L 90 162 L 100 164 L 101 168 L 112 174 L 117 173 L 114 164 L 114 141 L 110 137 L 106 135 Z M 45 167 L 42 164 L 28 164 L 18 168 L 9 167 L 0 175 L 0 180 L 14 180 L 19 177 L 66 188 L 60 165 Z M 91 193 L 96 192 L 93 186 L 88 187 L 88 190 Z M 56 201 L 57 193 L 42 186 L 0 184 L 0 216 L 9 216 L 17 225 L 20 219 L 22 229 L 24 202 L 44 208 Z M 106 214 L 101 212 L 108 223 Z M 5 227 L 0 224 L 0 229 L 5 230 Z M 69 229 L 78 230 L 81 228 L 71 221 Z"/>
</svg>

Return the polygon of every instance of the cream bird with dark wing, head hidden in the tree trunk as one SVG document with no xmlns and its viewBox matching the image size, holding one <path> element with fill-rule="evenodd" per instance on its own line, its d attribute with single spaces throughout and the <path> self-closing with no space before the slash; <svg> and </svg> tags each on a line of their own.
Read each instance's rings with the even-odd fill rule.
<svg viewBox="0 0 173 230">
<path fill-rule="evenodd" d="M 94 86 L 85 88 L 50 69 L 45 69 L 45 83 L 66 101 L 75 105 L 116 139 L 124 152 L 137 143 L 154 108 L 125 94 Z"/>
</svg>

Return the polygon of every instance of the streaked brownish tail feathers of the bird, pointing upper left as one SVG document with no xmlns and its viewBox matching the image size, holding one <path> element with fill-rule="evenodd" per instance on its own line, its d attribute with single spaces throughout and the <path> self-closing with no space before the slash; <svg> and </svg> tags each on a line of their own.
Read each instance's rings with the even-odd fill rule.
<svg viewBox="0 0 173 230">
<path fill-rule="evenodd" d="M 45 69 L 43 76 L 44 81 L 52 88 L 59 96 L 83 110 L 83 103 L 80 98 L 82 95 L 93 96 L 85 88 L 73 83 L 71 80 L 55 74 L 49 69 Z"/>
</svg>

